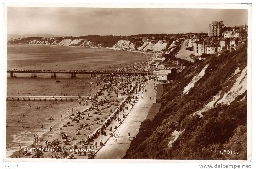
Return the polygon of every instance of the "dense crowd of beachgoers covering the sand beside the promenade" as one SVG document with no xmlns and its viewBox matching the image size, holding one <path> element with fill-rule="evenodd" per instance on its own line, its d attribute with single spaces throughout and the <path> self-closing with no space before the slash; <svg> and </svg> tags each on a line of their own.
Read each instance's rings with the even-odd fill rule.
<svg viewBox="0 0 256 169">
<path fill-rule="evenodd" d="M 119 68 L 115 71 L 139 71 L 141 68 L 148 68 L 149 66 L 150 60 L 146 60 Z M 106 126 L 112 121 L 121 123 L 122 120 L 127 117 L 127 115 L 124 114 L 124 110 L 128 110 L 128 107 L 130 107 L 130 109 L 133 108 L 134 100 L 139 98 L 136 96 L 136 93 L 139 91 L 146 92 L 144 87 L 149 78 L 149 76 L 121 74 L 115 76 L 98 76 L 97 83 L 95 83 L 94 86 L 99 86 L 100 89 L 91 96 L 90 101 L 79 101 L 80 106 L 90 104 L 87 109 L 79 111 L 76 106 L 71 109 L 72 114 L 68 115 L 67 118 L 62 119 L 61 115 L 61 120 L 64 120 L 64 122 L 56 129 L 60 130 L 59 139 L 53 137 L 53 140 L 45 141 L 44 148 L 54 149 L 54 154 L 51 153 L 49 158 L 74 158 L 74 155 L 86 155 L 86 152 L 88 152 L 87 149 L 89 148 L 97 148 L 97 141 L 94 141 L 94 139 L 102 134 L 109 135 L 112 133 L 113 129 L 111 127 L 110 133 L 106 133 Z M 122 112 L 123 116 L 120 116 Z M 77 126 L 74 133 L 62 131 L 72 126 Z M 52 127 L 50 127 L 50 131 L 54 131 Z M 105 132 L 102 133 L 102 131 Z M 112 133 L 111 136 L 117 140 L 117 138 L 120 137 L 120 133 L 115 132 Z M 78 140 L 78 138 L 82 139 Z M 38 136 L 36 135 L 36 146 L 43 146 L 40 145 L 38 141 Z M 66 147 L 69 149 L 80 149 L 80 151 L 75 151 L 74 153 L 62 152 L 61 148 L 64 149 Z M 94 152 L 88 152 L 87 155 L 89 155 L 89 158 L 93 158 L 93 153 Z M 44 157 L 47 157 L 47 155 Z M 33 158 L 42 158 L 42 154 L 35 153 Z"/>
</svg>

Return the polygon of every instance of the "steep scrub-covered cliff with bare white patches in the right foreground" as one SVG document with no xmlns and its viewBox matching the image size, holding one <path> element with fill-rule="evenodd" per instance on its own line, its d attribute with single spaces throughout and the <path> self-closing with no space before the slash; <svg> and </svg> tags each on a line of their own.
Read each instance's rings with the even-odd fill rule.
<svg viewBox="0 0 256 169">
<path fill-rule="evenodd" d="M 246 160 L 246 148 L 247 53 L 239 49 L 176 76 L 124 159 Z M 218 153 L 224 150 L 233 153 Z"/>
</svg>

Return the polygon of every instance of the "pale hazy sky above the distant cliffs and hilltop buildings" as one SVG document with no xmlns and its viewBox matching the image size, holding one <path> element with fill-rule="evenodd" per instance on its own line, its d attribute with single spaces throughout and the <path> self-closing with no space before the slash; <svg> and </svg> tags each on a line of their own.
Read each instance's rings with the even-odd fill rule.
<svg viewBox="0 0 256 169">
<path fill-rule="evenodd" d="M 7 34 L 136 35 L 208 33 L 212 21 L 247 24 L 246 9 L 8 7 Z"/>
</svg>

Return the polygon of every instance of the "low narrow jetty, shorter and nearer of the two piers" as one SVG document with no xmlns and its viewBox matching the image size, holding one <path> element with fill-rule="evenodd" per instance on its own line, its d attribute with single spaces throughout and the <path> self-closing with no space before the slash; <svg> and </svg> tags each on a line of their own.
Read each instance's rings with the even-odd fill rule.
<svg viewBox="0 0 256 169">
<path fill-rule="evenodd" d="M 78 101 L 88 100 L 89 96 L 6 96 L 7 101 Z"/>
</svg>

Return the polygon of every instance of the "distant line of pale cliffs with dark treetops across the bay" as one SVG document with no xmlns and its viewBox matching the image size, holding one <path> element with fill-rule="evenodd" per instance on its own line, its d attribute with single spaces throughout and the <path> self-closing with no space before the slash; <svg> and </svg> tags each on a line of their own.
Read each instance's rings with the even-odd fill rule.
<svg viewBox="0 0 256 169">
<path fill-rule="evenodd" d="M 110 47 L 112 49 L 125 50 L 147 50 L 166 52 L 169 42 L 165 40 L 147 40 L 133 39 L 123 40 L 120 36 L 83 36 L 83 37 L 59 37 L 59 38 L 43 38 L 43 37 L 28 37 L 22 39 L 10 40 L 8 43 L 13 44 L 39 44 L 39 45 L 57 45 L 57 46 L 88 46 L 88 47 Z M 126 37 L 126 39 L 129 39 Z M 168 50 L 173 50 L 175 45 L 169 46 Z"/>
</svg>

